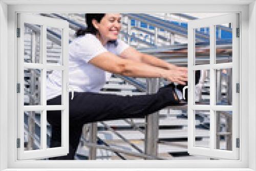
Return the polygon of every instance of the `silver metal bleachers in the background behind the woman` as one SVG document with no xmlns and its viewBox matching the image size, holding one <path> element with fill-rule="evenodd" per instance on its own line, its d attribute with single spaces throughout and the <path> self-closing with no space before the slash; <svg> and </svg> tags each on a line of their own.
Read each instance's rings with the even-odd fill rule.
<svg viewBox="0 0 256 171">
<path fill-rule="evenodd" d="M 83 23 L 84 14 L 40 14 L 42 16 L 67 20 L 70 24 L 70 42 L 75 38 L 74 33 L 79 28 L 86 28 Z M 196 17 L 185 14 L 173 14 L 186 19 L 196 19 Z M 123 28 L 120 38 L 137 48 L 140 52 L 152 54 L 167 62 L 172 62 L 178 66 L 187 66 L 187 44 L 180 39 L 187 37 L 187 24 L 179 23 L 168 19 L 163 19 L 153 14 L 122 14 Z M 222 26 L 220 26 L 222 27 Z M 27 34 L 37 32 L 38 28 L 28 26 Z M 223 27 L 222 27 L 223 29 Z M 57 63 L 60 53 L 60 33 L 58 30 L 47 30 L 47 60 Z M 223 49 L 230 44 L 229 28 L 224 28 L 222 38 L 218 44 Z M 179 37 L 179 38 L 177 38 Z M 175 39 L 177 38 L 177 39 Z M 198 44 L 203 45 L 209 40 L 205 30 L 196 31 Z M 30 60 L 29 40 L 25 40 L 27 48 L 27 60 Z M 25 103 L 36 103 L 39 99 L 40 79 L 38 71 L 27 71 L 25 73 L 26 91 Z M 50 72 L 48 72 L 50 74 Z M 34 81 L 33 83 L 31 81 Z M 206 76 L 201 80 L 203 84 L 202 97 L 209 98 L 209 79 Z M 37 85 L 36 89 L 33 86 Z M 163 84 L 163 83 L 162 83 Z M 33 88 L 33 90 L 32 90 Z M 101 93 L 112 93 L 118 95 L 142 95 L 146 94 L 148 84 L 145 79 L 131 78 L 110 74 Z M 227 87 L 224 88 L 226 92 Z M 30 92 L 30 93 L 29 93 Z M 33 93 L 31 93 L 33 92 Z M 25 105 L 26 105 L 25 104 Z M 40 143 L 40 117 L 37 113 L 25 113 L 25 146 L 27 150 L 38 149 Z M 76 159 L 176 159 L 179 157 L 190 159 L 207 159 L 201 156 L 189 156 L 187 153 L 187 114 L 186 106 L 176 106 L 163 109 L 159 113 L 158 125 L 158 156 L 144 153 L 145 148 L 145 119 L 125 119 L 116 121 L 102 121 L 98 123 L 84 125 L 80 145 L 77 149 Z M 209 140 L 209 118 L 204 115 L 196 115 L 196 123 L 199 131 L 196 140 L 204 143 Z M 51 136 L 50 124 L 48 124 L 48 145 Z M 94 137 L 92 137 L 92 130 Z M 97 148 L 97 149 L 95 149 Z M 94 149 L 94 154 L 92 153 Z M 92 157 L 93 156 L 93 157 Z"/>
</svg>

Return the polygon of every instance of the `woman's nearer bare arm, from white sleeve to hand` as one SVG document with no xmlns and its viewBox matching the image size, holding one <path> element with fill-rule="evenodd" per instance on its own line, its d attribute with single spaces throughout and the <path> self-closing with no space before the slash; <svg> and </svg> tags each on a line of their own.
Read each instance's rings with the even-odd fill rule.
<svg viewBox="0 0 256 171">
<path fill-rule="evenodd" d="M 148 65 L 139 60 L 123 59 L 110 52 L 104 52 L 90 61 L 94 66 L 115 74 L 133 77 L 165 78 L 172 82 L 185 84 L 187 73 L 167 70 Z"/>
</svg>

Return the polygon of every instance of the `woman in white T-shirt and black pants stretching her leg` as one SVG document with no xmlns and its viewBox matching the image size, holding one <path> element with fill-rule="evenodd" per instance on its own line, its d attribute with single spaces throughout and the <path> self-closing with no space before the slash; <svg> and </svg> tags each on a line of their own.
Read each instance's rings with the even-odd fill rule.
<svg viewBox="0 0 256 171">
<path fill-rule="evenodd" d="M 153 95 L 117 96 L 99 94 L 105 71 L 124 76 L 165 78 L 185 84 L 187 69 L 129 47 L 118 39 L 120 14 L 87 14 L 86 30 L 78 30 L 69 47 L 69 83 L 75 90 L 69 102 L 69 154 L 51 159 L 73 160 L 85 123 L 122 118 L 141 118 L 179 102 L 172 86 Z M 47 104 L 61 103 L 61 73 L 48 78 Z M 48 111 L 52 125 L 51 147 L 61 146 L 60 111 Z"/>
</svg>

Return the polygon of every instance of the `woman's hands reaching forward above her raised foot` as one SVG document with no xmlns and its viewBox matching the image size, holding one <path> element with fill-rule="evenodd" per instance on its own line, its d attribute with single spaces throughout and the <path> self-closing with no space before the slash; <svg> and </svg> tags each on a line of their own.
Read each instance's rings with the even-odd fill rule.
<svg viewBox="0 0 256 171">
<path fill-rule="evenodd" d="M 187 81 L 187 68 L 173 67 L 171 70 L 164 70 L 162 77 L 167 79 L 168 81 L 184 85 Z"/>
</svg>

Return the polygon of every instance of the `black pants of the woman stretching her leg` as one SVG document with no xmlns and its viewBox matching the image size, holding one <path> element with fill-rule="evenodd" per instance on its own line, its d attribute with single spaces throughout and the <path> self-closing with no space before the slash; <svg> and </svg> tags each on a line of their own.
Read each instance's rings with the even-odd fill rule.
<svg viewBox="0 0 256 171">
<path fill-rule="evenodd" d="M 71 96 L 71 94 L 70 94 Z M 47 101 L 48 105 L 59 104 L 57 96 Z M 79 144 L 83 124 L 124 118 L 143 118 L 167 105 L 178 104 L 173 88 L 166 86 L 156 94 L 139 96 L 118 96 L 89 92 L 75 92 L 69 100 L 69 154 L 50 158 L 51 160 L 73 160 Z M 47 120 L 52 125 L 51 147 L 61 146 L 61 111 L 48 111 Z"/>
</svg>

